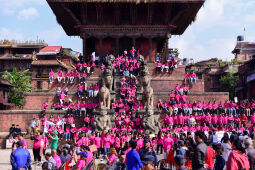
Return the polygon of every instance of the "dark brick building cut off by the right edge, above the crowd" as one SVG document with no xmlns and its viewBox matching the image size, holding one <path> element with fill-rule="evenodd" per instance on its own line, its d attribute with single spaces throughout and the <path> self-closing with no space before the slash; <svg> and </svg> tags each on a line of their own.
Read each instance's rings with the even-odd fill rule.
<svg viewBox="0 0 255 170">
<path fill-rule="evenodd" d="M 253 99 L 255 97 L 255 58 L 238 67 L 239 76 L 236 94 L 239 99 Z"/>
</svg>

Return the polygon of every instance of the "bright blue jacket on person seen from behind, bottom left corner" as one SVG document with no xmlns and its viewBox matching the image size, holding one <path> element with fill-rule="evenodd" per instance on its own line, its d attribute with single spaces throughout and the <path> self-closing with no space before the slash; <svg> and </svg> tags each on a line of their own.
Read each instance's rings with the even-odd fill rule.
<svg viewBox="0 0 255 170">
<path fill-rule="evenodd" d="M 12 170 L 27 169 L 31 164 L 31 156 L 28 150 L 19 147 L 11 153 Z"/>
</svg>

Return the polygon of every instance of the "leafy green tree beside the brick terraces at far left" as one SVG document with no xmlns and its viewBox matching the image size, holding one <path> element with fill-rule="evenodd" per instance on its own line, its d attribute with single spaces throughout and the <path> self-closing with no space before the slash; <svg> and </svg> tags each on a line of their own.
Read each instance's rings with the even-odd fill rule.
<svg viewBox="0 0 255 170">
<path fill-rule="evenodd" d="M 31 76 L 28 76 L 29 70 L 17 71 L 14 67 L 12 72 L 5 71 L 2 78 L 7 79 L 13 88 L 8 94 L 9 102 L 14 103 L 16 106 L 24 105 L 24 93 L 31 92 Z"/>
</svg>

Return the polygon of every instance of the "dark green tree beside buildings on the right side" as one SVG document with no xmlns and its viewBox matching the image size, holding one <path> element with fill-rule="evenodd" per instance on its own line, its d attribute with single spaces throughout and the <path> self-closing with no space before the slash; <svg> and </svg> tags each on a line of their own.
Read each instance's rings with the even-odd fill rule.
<svg viewBox="0 0 255 170">
<path fill-rule="evenodd" d="M 233 73 L 227 73 L 225 76 L 220 78 L 221 90 L 229 92 L 229 98 L 234 99 L 235 89 L 237 87 L 238 77 L 234 76 Z"/>
</svg>

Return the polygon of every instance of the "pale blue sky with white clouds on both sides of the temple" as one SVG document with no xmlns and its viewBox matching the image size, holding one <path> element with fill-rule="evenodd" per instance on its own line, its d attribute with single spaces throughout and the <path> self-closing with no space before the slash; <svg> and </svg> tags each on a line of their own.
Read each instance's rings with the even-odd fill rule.
<svg viewBox="0 0 255 170">
<path fill-rule="evenodd" d="M 82 52 L 79 37 L 69 37 L 57 23 L 46 0 L 0 0 L 0 40 L 42 39 Z M 237 35 L 255 41 L 255 0 L 206 0 L 196 21 L 181 36 L 172 36 L 169 47 L 180 57 L 201 61 L 230 61 Z M 244 33 L 245 28 L 245 33 Z"/>
</svg>

